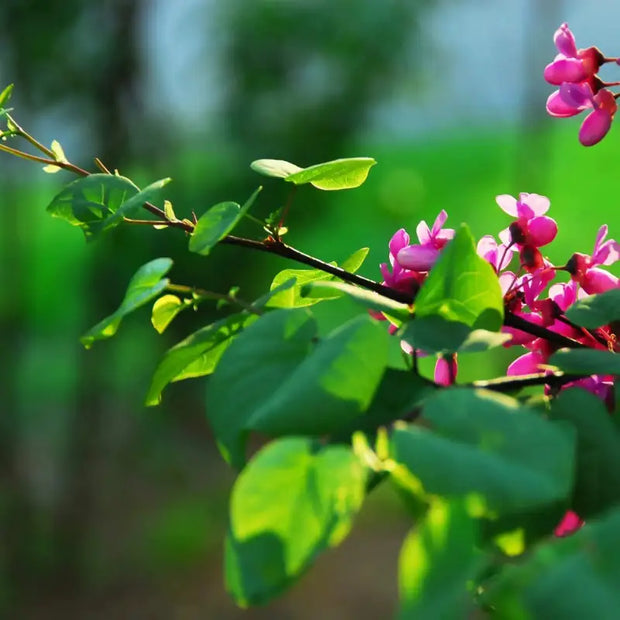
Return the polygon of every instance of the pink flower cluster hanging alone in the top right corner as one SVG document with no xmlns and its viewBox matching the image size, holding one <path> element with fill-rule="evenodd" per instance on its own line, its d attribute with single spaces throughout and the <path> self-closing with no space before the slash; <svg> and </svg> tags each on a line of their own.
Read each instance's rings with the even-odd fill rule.
<svg viewBox="0 0 620 620">
<path fill-rule="evenodd" d="M 589 110 L 579 130 L 579 141 L 592 146 L 605 137 L 618 109 L 618 95 L 608 88 L 618 83 L 603 82 L 597 73 L 601 65 L 618 59 L 606 58 L 596 47 L 577 49 L 567 24 L 556 30 L 553 41 L 559 53 L 545 67 L 544 76 L 549 84 L 560 88 L 547 99 L 547 112 L 566 118 Z"/>
</svg>

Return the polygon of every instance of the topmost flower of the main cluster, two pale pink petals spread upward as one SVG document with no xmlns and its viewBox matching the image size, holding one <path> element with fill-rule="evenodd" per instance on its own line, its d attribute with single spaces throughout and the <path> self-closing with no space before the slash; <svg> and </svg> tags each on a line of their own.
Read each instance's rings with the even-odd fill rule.
<svg viewBox="0 0 620 620">
<path fill-rule="evenodd" d="M 519 194 L 517 200 L 508 194 L 502 194 L 495 198 L 499 207 L 516 217 L 499 237 L 505 245 L 516 245 L 519 250 L 525 246 L 539 248 L 551 243 L 558 232 L 555 220 L 543 215 L 549 209 L 549 199 L 538 194 Z"/>
</svg>

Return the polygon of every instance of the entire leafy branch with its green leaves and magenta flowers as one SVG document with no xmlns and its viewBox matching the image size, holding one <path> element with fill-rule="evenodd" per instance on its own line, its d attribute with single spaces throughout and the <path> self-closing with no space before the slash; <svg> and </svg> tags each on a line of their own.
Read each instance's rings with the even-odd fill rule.
<svg viewBox="0 0 620 620">
<path fill-rule="evenodd" d="M 560 51 L 572 49 L 567 28 L 559 32 Z M 171 203 L 156 204 L 168 179 L 141 190 L 100 162 L 98 173 L 79 168 L 57 141 L 47 148 L 16 123 L 5 107 L 10 95 L 10 87 L 0 95 L 3 137 L 25 139 L 42 155 L 0 150 L 81 177 L 48 211 L 88 240 L 120 225 L 179 229 L 202 257 L 231 245 L 304 267 L 280 272 L 250 302 L 235 287 L 221 293 L 174 283 L 172 260 L 156 258 L 137 270 L 118 309 L 82 338 L 89 347 L 113 336 L 146 303 L 153 302 L 151 321 L 161 333 L 185 310 L 217 302 L 221 318 L 164 354 L 146 403 L 156 405 L 171 382 L 209 376 L 206 415 L 223 458 L 240 470 L 225 543 L 226 586 L 239 605 L 266 603 L 292 586 L 346 538 L 365 497 L 389 484 L 414 520 L 400 557 L 399 617 L 522 618 L 549 610 L 613 617 L 620 287 L 603 267 L 620 258 L 620 244 L 605 241 L 606 226 L 592 255 L 574 253 L 556 266 L 540 250 L 558 229 L 545 215 L 549 200 L 501 195 L 497 204 L 512 218 L 501 243 L 487 235 L 476 244 L 466 225 L 444 228 L 442 211 L 432 227 L 420 222 L 418 243 L 404 229 L 394 234 L 377 282 L 357 274 L 366 248 L 338 265 L 284 243 L 291 204 L 255 217 L 260 188 L 243 206 L 220 202 L 200 218 L 178 219 Z M 300 168 L 263 159 L 252 167 L 276 182 L 337 191 L 363 184 L 374 163 Z M 136 219 L 140 210 L 154 217 Z M 233 234 L 243 219 L 260 238 Z M 557 281 L 560 272 L 570 281 Z M 342 297 L 358 313 L 324 333 L 315 306 Z M 403 354 L 397 367 L 394 343 Z M 527 353 L 506 377 L 455 385 L 460 354 L 497 346 Z M 432 379 L 418 367 L 429 355 Z M 250 435 L 264 440 L 254 454 Z"/>
</svg>

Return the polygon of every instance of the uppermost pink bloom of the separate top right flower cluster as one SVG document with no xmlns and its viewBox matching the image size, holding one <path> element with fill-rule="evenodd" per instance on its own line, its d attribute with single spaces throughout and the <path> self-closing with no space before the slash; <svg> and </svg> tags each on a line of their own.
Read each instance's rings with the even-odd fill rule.
<svg viewBox="0 0 620 620">
<path fill-rule="evenodd" d="M 560 53 L 545 67 L 544 76 L 549 84 L 584 82 L 597 73 L 604 62 L 604 56 L 596 47 L 577 49 L 575 37 L 566 23 L 555 31 L 553 42 Z"/>
</svg>

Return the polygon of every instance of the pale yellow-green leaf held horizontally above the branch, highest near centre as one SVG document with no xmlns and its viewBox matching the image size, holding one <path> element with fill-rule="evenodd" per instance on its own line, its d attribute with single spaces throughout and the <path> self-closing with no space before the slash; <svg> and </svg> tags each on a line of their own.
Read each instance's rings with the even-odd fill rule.
<svg viewBox="0 0 620 620">
<path fill-rule="evenodd" d="M 285 179 L 295 185 L 311 183 L 318 189 L 338 190 L 359 187 L 376 163 L 371 157 L 351 157 L 300 168 L 281 159 L 258 159 L 250 167 L 260 174 Z"/>
</svg>

